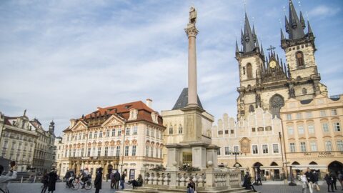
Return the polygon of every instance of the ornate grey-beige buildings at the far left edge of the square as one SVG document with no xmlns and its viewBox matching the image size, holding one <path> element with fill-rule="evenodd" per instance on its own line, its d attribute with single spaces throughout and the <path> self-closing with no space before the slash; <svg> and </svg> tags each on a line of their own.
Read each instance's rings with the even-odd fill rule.
<svg viewBox="0 0 343 193">
<path fill-rule="evenodd" d="M 45 131 L 38 119 L 0 112 L 1 159 L 14 160 L 19 172 L 44 172 L 54 167 L 54 122 Z"/>
</svg>

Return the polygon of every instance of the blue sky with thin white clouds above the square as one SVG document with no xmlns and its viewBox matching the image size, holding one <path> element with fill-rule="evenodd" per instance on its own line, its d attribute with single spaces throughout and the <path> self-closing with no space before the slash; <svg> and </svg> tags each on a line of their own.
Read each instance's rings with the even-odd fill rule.
<svg viewBox="0 0 343 193">
<path fill-rule="evenodd" d="M 236 117 L 239 86 L 234 59 L 244 19 L 234 1 L 0 1 L 0 111 L 39 119 L 56 134 L 79 118 L 146 98 L 172 109 L 187 86 L 189 6 L 197 8 L 198 91 L 217 119 Z M 343 1 L 294 1 L 309 19 L 316 60 L 329 95 L 343 91 Z M 247 0 L 250 24 L 264 51 L 279 48 L 287 0 Z M 281 23 L 281 24 L 280 24 Z M 306 29 L 305 29 L 306 30 Z"/>
</svg>

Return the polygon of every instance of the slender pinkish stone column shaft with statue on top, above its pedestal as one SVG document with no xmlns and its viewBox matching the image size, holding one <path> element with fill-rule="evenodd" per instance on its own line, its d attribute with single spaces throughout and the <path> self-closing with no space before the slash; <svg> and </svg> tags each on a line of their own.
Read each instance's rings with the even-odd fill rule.
<svg viewBox="0 0 343 193">
<path fill-rule="evenodd" d="M 192 6 L 189 10 L 189 24 L 187 24 L 186 34 L 188 36 L 188 106 L 198 106 L 197 98 L 197 53 L 195 40 L 198 34 L 197 10 Z"/>
</svg>

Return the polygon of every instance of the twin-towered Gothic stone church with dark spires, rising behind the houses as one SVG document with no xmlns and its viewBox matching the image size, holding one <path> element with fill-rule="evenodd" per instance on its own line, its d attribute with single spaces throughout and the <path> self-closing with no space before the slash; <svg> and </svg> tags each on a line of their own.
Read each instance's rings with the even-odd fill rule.
<svg viewBox="0 0 343 193">
<path fill-rule="evenodd" d="M 305 21 L 300 18 L 289 1 L 289 19 L 286 17 L 286 39 L 281 30 L 282 49 L 286 53 L 287 65 L 269 47 L 268 56 L 257 41 L 254 26 L 250 27 L 245 13 L 244 33 L 241 29 L 242 49 L 236 41 L 236 59 L 239 63 L 239 97 L 237 118 L 247 117 L 257 107 L 262 107 L 279 117 L 284 101 L 289 98 L 313 99 L 317 94 L 327 95 L 327 88 L 321 84 L 314 59 L 314 35 L 307 21 L 308 33 L 304 33 Z"/>
</svg>

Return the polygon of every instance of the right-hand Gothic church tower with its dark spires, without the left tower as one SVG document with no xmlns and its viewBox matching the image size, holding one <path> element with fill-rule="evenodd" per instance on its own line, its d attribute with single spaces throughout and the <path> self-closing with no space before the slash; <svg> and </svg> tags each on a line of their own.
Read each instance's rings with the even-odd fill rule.
<svg viewBox="0 0 343 193">
<path fill-rule="evenodd" d="M 293 80 L 290 86 L 294 96 L 299 100 L 312 99 L 317 94 L 327 95 L 327 87 L 321 84 L 320 74 L 314 59 L 314 34 L 309 21 L 307 21 L 307 34 L 304 33 L 305 21 L 300 11 L 299 17 L 294 9 L 292 1 L 289 1 L 289 19 L 285 16 L 285 28 L 288 39 L 281 30 L 281 46 L 286 53 L 286 61 L 289 65 L 290 78 Z"/>
</svg>

